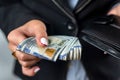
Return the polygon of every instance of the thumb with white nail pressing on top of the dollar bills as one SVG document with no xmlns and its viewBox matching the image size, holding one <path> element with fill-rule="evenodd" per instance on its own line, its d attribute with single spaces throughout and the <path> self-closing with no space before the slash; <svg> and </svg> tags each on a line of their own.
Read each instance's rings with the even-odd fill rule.
<svg viewBox="0 0 120 80">
<path fill-rule="evenodd" d="M 48 38 L 46 32 L 45 24 L 40 20 L 31 20 L 27 22 L 25 25 L 24 30 L 27 30 L 25 34 L 28 36 L 35 36 L 37 44 L 39 46 L 46 46 L 48 45 Z"/>
</svg>

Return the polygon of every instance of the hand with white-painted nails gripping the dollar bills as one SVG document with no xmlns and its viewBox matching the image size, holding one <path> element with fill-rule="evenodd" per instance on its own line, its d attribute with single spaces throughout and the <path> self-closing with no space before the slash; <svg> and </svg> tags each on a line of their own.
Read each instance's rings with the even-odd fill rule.
<svg viewBox="0 0 120 80">
<path fill-rule="evenodd" d="M 48 44 L 44 23 L 40 20 L 31 20 L 8 34 L 9 48 L 11 51 L 16 50 L 17 45 L 30 36 L 36 37 L 36 41 L 39 46 L 44 47 Z M 39 58 L 20 51 L 16 51 L 15 55 L 22 66 L 22 72 L 24 75 L 34 76 L 35 73 L 40 70 L 38 66 L 33 66 L 40 61 Z"/>
</svg>

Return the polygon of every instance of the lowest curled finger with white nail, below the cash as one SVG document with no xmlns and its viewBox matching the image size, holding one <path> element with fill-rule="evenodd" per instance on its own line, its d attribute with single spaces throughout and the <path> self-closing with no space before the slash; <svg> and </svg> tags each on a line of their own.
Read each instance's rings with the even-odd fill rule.
<svg viewBox="0 0 120 80">
<path fill-rule="evenodd" d="M 38 66 L 34 66 L 32 68 L 27 68 L 22 66 L 22 72 L 24 75 L 27 76 L 34 76 L 39 70 L 40 68 Z"/>
</svg>

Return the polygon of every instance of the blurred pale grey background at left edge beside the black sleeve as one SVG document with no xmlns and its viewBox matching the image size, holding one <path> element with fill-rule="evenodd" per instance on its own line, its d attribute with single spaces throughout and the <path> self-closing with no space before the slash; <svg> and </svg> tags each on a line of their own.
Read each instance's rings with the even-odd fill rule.
<svg viewBox="0 0 120 80">
<path fill-rule="evenodd" d="M 6 37 L 0 29 L 0 80 L 21 80 L 13 74 L 14 61 Z"/>
</svg>

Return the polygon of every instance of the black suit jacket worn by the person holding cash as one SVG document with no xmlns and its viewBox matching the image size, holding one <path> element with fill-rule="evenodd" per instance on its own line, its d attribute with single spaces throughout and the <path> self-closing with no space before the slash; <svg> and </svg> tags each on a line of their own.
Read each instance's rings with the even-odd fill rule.
<svg viewBox="0 0 120 80">
<path fill-rule="evenodd" d="M 0 28 L 6 36 L 13 29 L 29 20 L 40 19 L 47 27 L 48 35 L 80 36 L 86 20 L 106 15 L 119 0 L 80 0 L 71 10 L 64 0 L 0 0 Z M 10 2 L 10 3 L 9 3 Z M 118 80 L 120 61 L 103 55 L 103 52 L 82 41 L 82 62 L 91 80 Z M 35 77 L 21 73 L 18 63 L 15 74 L 23 80 L 65 80 L 68 62 L 41 61 L 41 70 Z M 114 74 L 116 72 L 116 74 Z"/>
</svg>

